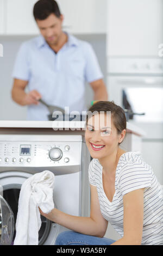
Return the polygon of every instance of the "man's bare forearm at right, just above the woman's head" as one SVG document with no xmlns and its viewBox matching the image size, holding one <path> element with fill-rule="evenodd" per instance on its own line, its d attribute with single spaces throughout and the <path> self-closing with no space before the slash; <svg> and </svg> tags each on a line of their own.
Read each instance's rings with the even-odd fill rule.
<svg viewBox="0 0 163 256">
<path fill-rule="evenodd" d="M 102 79 L 93 81 L 90 83 L 90 85 L 95 93 L 93 97 L 94 100 L 108 100 L 108 93 L 104 81 Z"/>
</svg>

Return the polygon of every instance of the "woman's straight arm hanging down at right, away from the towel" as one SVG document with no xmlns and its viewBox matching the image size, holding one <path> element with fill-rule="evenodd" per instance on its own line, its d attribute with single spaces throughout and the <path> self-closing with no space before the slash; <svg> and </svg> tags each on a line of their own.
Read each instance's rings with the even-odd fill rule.
<svg viewBox="0 0 163 256">
<path fill-rule="evenodd" d="M 121 239 L 111 245 L 141 245 L 143 229 L 143 188 L 123 196 L 123 229 Z"/>
</svg>

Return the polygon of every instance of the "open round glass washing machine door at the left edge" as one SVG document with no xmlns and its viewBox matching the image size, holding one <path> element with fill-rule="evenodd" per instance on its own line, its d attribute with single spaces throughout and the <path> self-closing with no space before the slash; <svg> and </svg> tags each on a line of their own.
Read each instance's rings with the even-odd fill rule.
<svg viewBox="0 0 163 256">
<path fill-rule="evenodd" d="M 0 195 L 0 245 L 11 245 L 14 235 L 14 214 Z"/>
</svg>

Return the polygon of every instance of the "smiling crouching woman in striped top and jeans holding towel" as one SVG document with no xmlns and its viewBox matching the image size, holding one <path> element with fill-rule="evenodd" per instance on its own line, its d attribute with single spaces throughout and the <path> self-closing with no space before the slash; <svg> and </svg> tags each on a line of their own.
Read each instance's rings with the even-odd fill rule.
<svg viewBox="0 0 163 256">
<path fill-rule="evenodd" d="M 89 166 L 90 217 L 53 209 L 41 214 L 73 231 L 64 231 L 55 245 L 159 245 L 163 243 L 163 198 L 151 166 L 139 151 L 119 145 L 126 135 L 126 117 L 114 102 L 98 101 L 89 111 L 85 141 L 93 160 Z M 109 115 L 106 115 L 111 113 Z M 121 235 L 103 237 L 108 221 Z"/>
</svg>

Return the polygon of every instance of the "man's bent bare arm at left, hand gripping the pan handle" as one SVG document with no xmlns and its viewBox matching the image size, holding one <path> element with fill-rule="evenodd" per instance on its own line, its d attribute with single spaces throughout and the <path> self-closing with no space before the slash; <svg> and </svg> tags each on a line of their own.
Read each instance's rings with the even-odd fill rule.
<svg viewBox="0 0 163 256">
<path fill-rule="evenodd" d="M 41 95 L 36 90 L 32 90 L 29 93 L 26 93 L 24 90 L 28 84 L 28 81 L 14 79 L 14 84 L 12 87 L 11 95 L 12 100 L 18 103 L 21 106 L 25 105 L 37 105 L 39 102 L 38 100 L 41 98 Z"/>
</svg>

